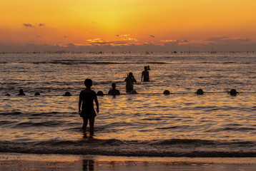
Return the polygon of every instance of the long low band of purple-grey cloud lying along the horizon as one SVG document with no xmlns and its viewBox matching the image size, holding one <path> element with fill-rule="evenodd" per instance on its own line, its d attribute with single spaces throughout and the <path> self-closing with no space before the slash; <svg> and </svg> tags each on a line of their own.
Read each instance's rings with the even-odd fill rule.
<svg viewBox="0 0 256 171">
<path fill-rule="evenodd" d="M 167 40 L 165 40 L 167 41 Z M 174 43 L 171 43 L 174 42 Z M 89 42 L 86 44 L 69 43 L 61 45 L 36 45 L 29 43 L 24 46 L 10 44 L 0 44 L 0 51 L 12 52 L 12 51 L 92 51 L 92 47 L 95 51 L 255 51 L 256 43 L 203 43 L 203 41 L 190 40 L 191 43 L 180 43 L 182 41 L 169 40 L 169 43 L 162 42 L 162 45 L 156 45 L 153 43 L 134 44 L 130 41 L 109 41 L 109 42 Z M 185 42 L 185 40 L 183 41 Z M 202 42 L 202 43 L 199 43 Z"/>
</svg>

